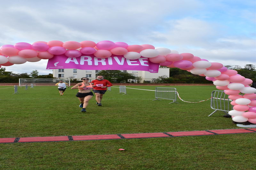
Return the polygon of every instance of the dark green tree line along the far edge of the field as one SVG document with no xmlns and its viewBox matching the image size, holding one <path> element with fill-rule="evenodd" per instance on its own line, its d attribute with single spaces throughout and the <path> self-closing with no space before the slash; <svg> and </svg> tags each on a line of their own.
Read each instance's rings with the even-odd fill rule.
<svg viewBox="0 0 256 170">
<path fill-rule="evenodd" d="M 252 79 L 256 82 L 256 66 L 247 64 L 244 67 L 239 65 L 225 65 L 228 69 L 233 69 L 245 78 Z M 119 70 L 102 70 L 99 71 L 98 75 L 102 75 L 105 79 L 116 83 L 143 83 L 142 77 L 135 77 L 131 73 L 125 73 Z M 12 71 L 6 71 L 6 68 L 0 68 L 0 83 L 17 83 L 20 78 L 35 78 L 35 79 L 54 79 L 53 74 L 38 75 L 37 70 L 33 70 L 30 74 L 22 73 L 15 74 Z M 71 82 L 77 82 L 78 79 L 72 79 Z M 189 71 L 181 70 L 180 68 L 169 68 L 169 77 L 163 75 L 152 79 L 151 83 L 200 83 L 206 84 L 211 83 L 205 77 L 191 74 Z M 148 83 L 148 82 L 147 82 Z"/>
</svg>

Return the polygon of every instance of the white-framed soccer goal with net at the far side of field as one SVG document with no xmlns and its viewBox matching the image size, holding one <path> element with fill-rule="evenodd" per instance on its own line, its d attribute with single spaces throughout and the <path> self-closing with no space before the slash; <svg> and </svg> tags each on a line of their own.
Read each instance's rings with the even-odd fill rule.
<svg viewBox="0 0 256 170">
<path fill-rule="evenodd" d="M 19 86 L 24 85 L 55 85 L 57 82 L 62 80 L 70 86 L 70 79 L 19 79 Z"/>
</svg>

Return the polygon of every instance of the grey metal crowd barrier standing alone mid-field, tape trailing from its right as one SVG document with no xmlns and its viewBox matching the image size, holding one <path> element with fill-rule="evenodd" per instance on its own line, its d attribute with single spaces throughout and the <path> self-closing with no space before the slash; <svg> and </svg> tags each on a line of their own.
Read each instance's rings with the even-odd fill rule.
<svg viewBox="0 0 256 170">
<path fill-rule="evenodd" d="M 154 100 L 159 100 L 159 99 L 168 99 L 172 100 L 171 103 L 178 103 L 177 101 L 177 90 L 176 88 L 159 88 L 157 87 L 155 90 L 155 98 Z M 153 100 L 153 101 L 154 101 Z M 171 104 L 169 103 L 169 104 Z"/>
</svg>

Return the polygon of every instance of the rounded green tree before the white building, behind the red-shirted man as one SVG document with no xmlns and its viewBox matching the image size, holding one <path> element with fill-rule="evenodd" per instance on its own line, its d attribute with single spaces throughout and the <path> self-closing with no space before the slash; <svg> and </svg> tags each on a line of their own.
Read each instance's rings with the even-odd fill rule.
<svg viewBox="0 0 256 170">
<path fill-rule="evenodd" d="M 110 82 L 128 82 L 128 79 L 135 79 L 136 77 L 131 73 L 124 73 L 120 70 L 101 70 L 97 75 L 101 75 L 104 79 Z"/>
</svg>

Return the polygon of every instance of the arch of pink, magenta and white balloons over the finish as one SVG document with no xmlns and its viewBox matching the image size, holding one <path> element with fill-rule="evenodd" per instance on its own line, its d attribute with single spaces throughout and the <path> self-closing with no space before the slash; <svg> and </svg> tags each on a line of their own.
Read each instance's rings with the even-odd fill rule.
<svg viewBox="0 0 256 170">
<path fill-rule="evenodd" d="M 125 59 L 148 58 L 152 63 L 180 68 L 192 74 L 204 76 L 212 81 L 216 88 L 224 90 L 233 100 L 232 111 L 229 114 L 234 122 L 250 122 L 256 124 L 256 89 L 249 85 L 253 83 L 238 74 L 235 70 L 229 70 L 218 62 L 209 62 L 190 53 L 179 54 L 168 48 L 157 48 L 153 45 L 128 45 L 125 42 L 100 41 L 67 41 L 52 40 L 49 42 L 38 41 L 32 45 L 26 42 L 18 42 L 15 45 L 2 45 L 0 47 L 0 67 L 25 62 L 38 62 L 41 59 L 52 59 L 55 55 L 66 57 L 81 57 L 93 55 L 105 59 L 112 55 L 123 56 Z"/>
</svg>

